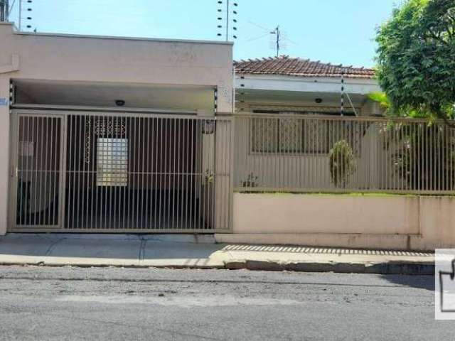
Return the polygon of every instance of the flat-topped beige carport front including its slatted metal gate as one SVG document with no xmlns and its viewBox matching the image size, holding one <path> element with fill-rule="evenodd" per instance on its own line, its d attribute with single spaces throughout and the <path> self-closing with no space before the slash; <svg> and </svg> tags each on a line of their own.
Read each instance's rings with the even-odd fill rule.
<svg viewBox="0 0 455 341">
<path fill-rule="evenodd" d="M 229 230 L 232 43 L 0 41 L 1 234 Z"/>
</svg>

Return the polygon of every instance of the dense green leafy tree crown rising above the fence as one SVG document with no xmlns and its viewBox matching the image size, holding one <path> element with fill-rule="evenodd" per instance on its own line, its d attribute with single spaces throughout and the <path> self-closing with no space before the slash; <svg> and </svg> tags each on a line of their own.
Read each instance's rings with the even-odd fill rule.
<svg viewBox="0 0 455 341">
<path fill-rule="evenodd" d="M 376 41 L 390 114 L 455 117 L 455 0 L 407 0 Z"/>
</svg>

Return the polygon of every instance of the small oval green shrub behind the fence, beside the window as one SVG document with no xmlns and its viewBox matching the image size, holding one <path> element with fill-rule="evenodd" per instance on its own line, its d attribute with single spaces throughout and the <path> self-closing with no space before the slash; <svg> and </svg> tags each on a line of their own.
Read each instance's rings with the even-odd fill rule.
<svg viewBox="0 0 455 341">
<path fill-rule="evenodd" d="M 338 141 L 333 144 L 328 157 L 333 185 L 338 188 L 346 188 L 350 176 L 353 175 L 356 168 L 353 148 L 346 140 Z"/>
</svg>

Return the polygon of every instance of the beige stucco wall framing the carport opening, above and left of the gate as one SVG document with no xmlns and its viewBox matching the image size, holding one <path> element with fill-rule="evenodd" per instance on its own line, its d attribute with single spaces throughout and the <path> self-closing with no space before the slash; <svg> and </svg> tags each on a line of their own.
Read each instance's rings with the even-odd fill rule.
<svg viewBox="0 0 455 341">
<path fill-rule="evenodd" d="M 9 99 L 11 79 L 194 85 L 217 88 L 218 112 L 232 113 L 231 43 L 17 33 L 10 23 L 0 23 L 0 42 L 0 98 Z M 11 176 L 9 110 L 0 106 L 0 235 Z"/>
</svg>

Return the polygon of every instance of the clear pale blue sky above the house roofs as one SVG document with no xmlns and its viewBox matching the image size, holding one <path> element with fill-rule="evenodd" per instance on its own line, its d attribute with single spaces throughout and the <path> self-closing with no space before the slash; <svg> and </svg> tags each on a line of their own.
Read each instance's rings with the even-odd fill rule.
<svg viewBox="0 0 455 341">
<path fill-rule="evenodd" d="M 14 0 L 10 0 L 11 2 Z M 18 1 L 11 18 L 17 21 Z M 214 40 L 218 0 L 32 0 L 23 8 L 38 32 Z M 225 0 L 223 0 L 225 1 Z M 373 66 L 375 30 L 401 0 L 232 0 L 239 3 L 235 59 L 274 55 L 271 35 L 284 32 L 282 54 Z M 23 21 L 23 26 L 26 21 Z M 260 38 L 259 38 L 260 37 Z"/>
</svg>

